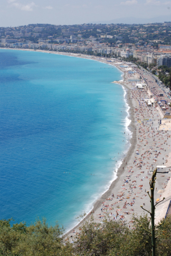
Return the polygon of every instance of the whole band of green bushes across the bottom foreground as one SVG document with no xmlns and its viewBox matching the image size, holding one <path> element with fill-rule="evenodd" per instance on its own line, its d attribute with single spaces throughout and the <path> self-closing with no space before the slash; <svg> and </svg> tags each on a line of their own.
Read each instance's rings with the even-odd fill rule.
<svg viewBox="0 0 171 256">
<path fill-rule="evenodd" d="M 46 221 L 35 224 L 11 224 L 0 221 L 0 255 L 11 256 L 148 256 L 152 255 L 150 220 L 134 216 L 131 229 L 126 222 L 105 220 L 97 224 L 86 221 L 73 242 L 62 238 L 64 230 L 48 226 Z M 171 255 L 171 217 L 156 229 L 156 255 Z"/>
</svg>

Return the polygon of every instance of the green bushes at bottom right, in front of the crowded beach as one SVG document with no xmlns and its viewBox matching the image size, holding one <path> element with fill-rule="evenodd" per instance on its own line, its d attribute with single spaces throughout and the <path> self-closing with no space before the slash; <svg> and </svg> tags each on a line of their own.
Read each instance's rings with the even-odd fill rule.
<svg viewBox="0 0 171 256">
<path fill-rule="evenodd" d="M 105 220 L 97 224 L 91 218 L 81 228 L 74 241 L 74 256 L 151 256 L 151 221 L 145 216 L 134 216 L 129 229 L 120 221 Z M 156 255 L 171 255 L 171 218 L 156 228 Z"/>
</svg>

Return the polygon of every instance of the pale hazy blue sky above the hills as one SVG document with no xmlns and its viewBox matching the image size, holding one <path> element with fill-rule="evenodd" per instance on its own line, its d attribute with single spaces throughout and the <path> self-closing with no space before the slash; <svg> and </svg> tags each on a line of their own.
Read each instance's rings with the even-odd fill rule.
<svg viewBox="0 0 171 256">
<path fill-rule="evenodd" d="M 170 16 L 171 0 L 1 0 L 0 27 Z M 168 21 L 168 20 L 166 20 Z"/>
</svg>

